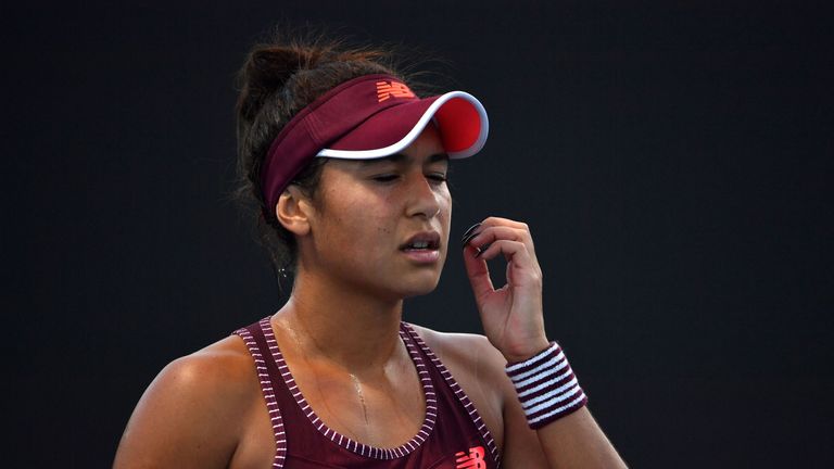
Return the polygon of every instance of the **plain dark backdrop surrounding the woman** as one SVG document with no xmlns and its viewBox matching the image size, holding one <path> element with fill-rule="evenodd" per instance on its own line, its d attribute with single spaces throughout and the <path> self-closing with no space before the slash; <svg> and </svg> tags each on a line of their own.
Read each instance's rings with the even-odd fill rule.
<svg viewBox="0 0 834 469">
<path fill-rule="evenodd" d="M 834 467 L 823 8 L 66 3 L 1 8 L 4 467 L 109 467 L 165 364 L 280 306 L 229 201 L 233 75 L 278 21 L 419 48 L 484 103 L 453 239 L 529 223 L 627 462 Z M 454 250 L 406 319 L 480 332 Z"/>
</svg>

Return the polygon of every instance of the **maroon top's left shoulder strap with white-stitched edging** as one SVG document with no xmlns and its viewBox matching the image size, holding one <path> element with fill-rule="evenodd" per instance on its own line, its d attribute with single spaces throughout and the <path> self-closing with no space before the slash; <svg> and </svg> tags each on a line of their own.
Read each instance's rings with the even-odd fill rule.
<svg viewBox="0 0 834 469">
<path fill-rule="evenodd" d="M 287 457 L 287 435 L 283 430 L 281 410 L 275 397 L 275 386 L 278 384 L 277 380 L 280 379 L 281 375 L 275 360 L 271 358 L 264 359 L 264 356 L 271 357 L 270 350 L 278 346 L 271 331 L 273 328 L 269 326 L 269 317 L 267 316 L 257 322 L 236 330 L 235 334 L 243 339 L 249 353 L 255 360 L 257 380 L 261 382 L 261 391 L 264 393 L 266 408 L 269 410 L 269 419 L 271 420 L 273 432 L 275 433 L 276 451 L 273 468 L 280 469 L 283 467 L 283 461 Z"/>
</svg>

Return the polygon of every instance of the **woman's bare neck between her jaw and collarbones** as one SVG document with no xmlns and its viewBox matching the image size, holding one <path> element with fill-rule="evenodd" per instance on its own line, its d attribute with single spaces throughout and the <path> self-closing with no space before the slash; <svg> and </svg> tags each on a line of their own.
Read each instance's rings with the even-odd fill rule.
<svg viewBox="0 0 834 469">
<path fill-rule="evenodd" d="M 402 308 L 402 299 L 380 299 L 300 269 L 275 320 L 307 357 L 361 373 L 384 367 L 397 353 Z"/>
</svg>

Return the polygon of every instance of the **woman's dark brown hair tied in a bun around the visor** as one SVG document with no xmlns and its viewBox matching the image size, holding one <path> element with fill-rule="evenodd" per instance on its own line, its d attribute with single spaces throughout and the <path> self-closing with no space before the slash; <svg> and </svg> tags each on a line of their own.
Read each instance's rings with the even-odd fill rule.
<svg viewBox="0 0 834 469">
<path fill-rule="evenodd" d="M 343 81 L 378 73 L 404 79 L 394 71 L 392 56 L 382 49 L 350 46 L 346 40 L 323 36 L 290 41 L 274 37 L 250 50 L 237 77 L 236 199 L 254 218 L 277 270 L 293 272 L 298 251 L 292 233 L 275 217 L 275 207 L 265 206 L 261 167 L 269 145 L 295 114 Z M 314 201 L 327 160 L 314 159 L 291 182 Z"/>
</svg>

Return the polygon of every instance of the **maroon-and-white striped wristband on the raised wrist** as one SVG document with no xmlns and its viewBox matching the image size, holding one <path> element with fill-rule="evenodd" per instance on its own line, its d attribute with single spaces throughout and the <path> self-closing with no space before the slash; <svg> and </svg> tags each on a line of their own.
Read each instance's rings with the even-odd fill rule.
<svg viewBox="0 0 834 469">
<path fill-rule="evenodd" d="M 507 364 L 506 371 L 533 430 L 587 404 L 587 396 L 556 342 L 530 359 Z"/>
</svg>

